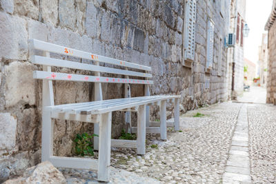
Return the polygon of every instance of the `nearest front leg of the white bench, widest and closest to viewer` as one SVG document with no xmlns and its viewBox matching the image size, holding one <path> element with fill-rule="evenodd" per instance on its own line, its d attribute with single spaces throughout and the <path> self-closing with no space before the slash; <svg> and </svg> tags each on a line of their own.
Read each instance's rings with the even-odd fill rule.
<svg viewBox="0 0 276 184">
<path fill-rule="evenodd" d="M 99 121 L 99 181 L 109 181 L 110 178 L 111 114 L 101 114 Z"/>
</svg>

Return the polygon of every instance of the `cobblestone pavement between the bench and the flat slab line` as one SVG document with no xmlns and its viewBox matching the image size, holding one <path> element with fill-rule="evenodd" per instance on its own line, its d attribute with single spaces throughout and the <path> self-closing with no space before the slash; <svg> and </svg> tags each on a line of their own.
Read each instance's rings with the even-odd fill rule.
<svg viewBox="0 0 276 184">
<path fill-rule="evenodd" d="M 168 130 L 167 141 L 160 141 L 159 134 L 148 134 L 144 156 L 137 156 L 136 150 L 112 149 L 112 167 L 125 173 L 117 174 L 111 183 L 130 183 L 129 178 L 141 176 L 146 178 L 137 183 L 152 183 L 152 178 L 160 183 L 221 183 L 241 106 L 228 102 L 187 112 L 181 116 L 179 132 Z M 83 178 L 80 183 L 95 183 L 93 172 L 63 170 L 63 174 L 68 183 L 77 183 L 76 178 Z"/>
</svg>

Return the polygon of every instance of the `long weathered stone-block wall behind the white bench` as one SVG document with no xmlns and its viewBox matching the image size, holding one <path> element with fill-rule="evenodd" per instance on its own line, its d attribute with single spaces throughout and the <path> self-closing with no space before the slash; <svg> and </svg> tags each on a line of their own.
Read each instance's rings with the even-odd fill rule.
<svg viewBox="0 0 276 184">
<path fill-rule="evenodd" d="M 187 68 L 182 65 L 184 1 L 1 0 L 0 182 L 39 163 L 41 157 L 42 86 L 41 81 L 32 79 L 32 71 L 41 67 L 30 63 L 28 39 L 149 65 L 154 81 L 151 94 L 181 95 L 180 109 L 184 113 L 224 101 L 227 96 L 226 50 L 223 46 L 219 48 L 218 43 L 228 28 L 219 3 L 197 1 L 195 61 L 192 68 Z M 210 72 L 205 70 L 208 18 L 215 22 L 214 62 Z M 57 54 L 52 57 L 88 62 Z M 56 81 L 55 104 L 90 101 L 93 88 L 92 83 Z M 141 87 L 132 86 L 132 96 L 143 92 Z M 123 85 L 103 84 L 103 99 L 121 97 Z M 172 108 L 169 103 L 168 118 Z M 156 112 L 153 107 L 152 119 L 158 117 Z M 119 136 L 124 127 L 123 117 L 121 113 L 113 115 L 113 137 Z M 92 129 L 88 123 L 55 121 L 55 154 L 71 155 L 75 135 Z"/>
</svg>

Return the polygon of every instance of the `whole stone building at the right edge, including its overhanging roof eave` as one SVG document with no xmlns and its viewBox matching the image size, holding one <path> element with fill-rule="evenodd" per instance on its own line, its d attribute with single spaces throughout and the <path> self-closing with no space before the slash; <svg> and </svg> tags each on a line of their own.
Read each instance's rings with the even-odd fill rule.
<svg viewBox="0 0 276 184">
<path fill-rule="evenodd" d="M 266 103 L 276 102 L 276 1 L 273 0 L 273 9 L 266 22 L 268 30 L 268 79 L 266 83 Z"/>
</svg>

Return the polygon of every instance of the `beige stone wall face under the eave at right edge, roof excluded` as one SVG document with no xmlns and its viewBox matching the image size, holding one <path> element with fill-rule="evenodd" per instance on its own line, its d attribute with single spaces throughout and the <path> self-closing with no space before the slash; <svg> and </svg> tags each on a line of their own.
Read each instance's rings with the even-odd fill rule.
<svg viewBox="0 0 276 184">
<path fill-rule="evenodd" d="M 276 97 L 276 23 L 268 30 L 268 81 L 266 103 L 275 103 Z"/>
</svg>

